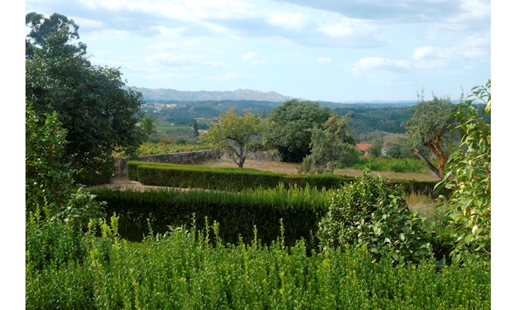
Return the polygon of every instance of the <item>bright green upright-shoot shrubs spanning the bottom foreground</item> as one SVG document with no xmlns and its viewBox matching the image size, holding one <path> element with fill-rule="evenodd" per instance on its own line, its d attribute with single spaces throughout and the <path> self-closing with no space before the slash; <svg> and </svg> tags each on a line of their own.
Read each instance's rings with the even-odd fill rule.
<svg viewBox="0 0 517 310">
<path fill-rule="evenodd" d="M 478 263 L 436 272 L 432 261 L 372 262 L 363 249 L 307 257 L 305 242 L 287 247 L 282 238 L 268 247 L 260 240 L 225 245 L 216 241 L 219 224 L 207 220 L 141 243 L 121 240 L 116 227 L 103 223 L 101 236 L 83 235 L 81 251 L 61 245 L 52 227 L 31 228 L 28 244 L 43 235 L 73 254 L 37 267 L 41 252 L 27 252 L 26 309 L 490 308 L 491 271 Z"/>
</svg>

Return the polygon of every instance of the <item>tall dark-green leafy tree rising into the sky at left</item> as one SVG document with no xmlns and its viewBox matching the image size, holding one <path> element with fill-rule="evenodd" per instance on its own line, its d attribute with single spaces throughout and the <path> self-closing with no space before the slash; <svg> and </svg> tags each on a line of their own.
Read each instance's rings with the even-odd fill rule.
<svg viewBox="0 0 517 310">
<path fill-rule="evenodd" d="M 39 114 L 57 112 L 67 130 L 65 158 L 79 183 L 108 182 L 112 152 L 136 150 L 143 133 L 141 93 L 125 88 L 117 68 L 91 65 L 85 45 L 74 45 L 77 25 L 59 14 L 29 13 L 26 99 Z"/>
</svg>

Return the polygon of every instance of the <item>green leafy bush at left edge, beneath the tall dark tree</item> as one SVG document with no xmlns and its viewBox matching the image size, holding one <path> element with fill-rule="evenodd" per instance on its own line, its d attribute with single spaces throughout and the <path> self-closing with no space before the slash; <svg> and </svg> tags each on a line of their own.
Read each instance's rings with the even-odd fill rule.
<svg viewBox="0 0 517 310">
<path fill-rule="evenodd" d="M 26 103 L 26 212 L 29 217 L 63 220 L 81 229 L 90 218 L 101 218 L 103 203 L 74 184 L 69 165 L 63 163 L 65 130 L 57 113 L 45 122 Z"/>
</svg>

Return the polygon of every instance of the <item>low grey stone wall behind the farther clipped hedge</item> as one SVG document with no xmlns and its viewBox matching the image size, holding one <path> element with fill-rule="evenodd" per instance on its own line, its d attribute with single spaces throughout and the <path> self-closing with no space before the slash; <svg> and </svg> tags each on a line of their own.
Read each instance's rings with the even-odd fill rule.
<svg viewBox="0 0 517 310">
<path fill-rule="evenodd" d="M 138 158 L 115 158 L 116 176 L 125 176 L 125 164 L 128 161 L 149 161 L 154 163 L 196 164 L 205 161 L 214 161 L 221 158 L 221 152 L 206 150 L 195 152 L 181 152 L 172 154 L 139 156 Z"/>
</svg>

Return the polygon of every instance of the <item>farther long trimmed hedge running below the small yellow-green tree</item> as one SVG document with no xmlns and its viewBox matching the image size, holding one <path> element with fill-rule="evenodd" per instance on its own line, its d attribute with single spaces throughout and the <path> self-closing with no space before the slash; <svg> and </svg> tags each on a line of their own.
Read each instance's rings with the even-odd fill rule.
<svg viewBox="0 0 517 310">
<path fill-rule="evenodd" d="M 170 163 L 148 163 L 129 161 L 128 178 L 144 185 L 188 187 L 203 189 L 242 190 L 252 188 L 274 188 L 278 183 L 286 187 L 317 187 L 319 189 L 339 188 L 355 180 L 352 176 L 336 174 L 279 174 L 255 169 L 206 167 L 198 165 L 176 165 Z M 416 180 L 392 180 L 401 184 L 406 192 L 418 192 L 436 196 L 436 182 Z"/>
</svg>

